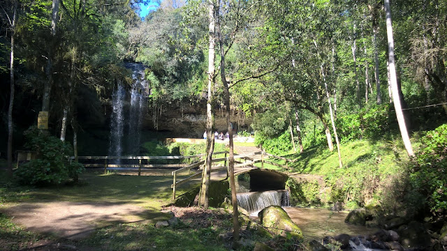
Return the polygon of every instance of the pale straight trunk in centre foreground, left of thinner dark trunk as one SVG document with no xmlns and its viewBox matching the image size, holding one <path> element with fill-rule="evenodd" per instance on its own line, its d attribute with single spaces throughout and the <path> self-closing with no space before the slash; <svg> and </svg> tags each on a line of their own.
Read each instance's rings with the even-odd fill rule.
<svg viewBox="0 0 447 251">
<path fill-rule="evenodd" d="M 214 126 L 214 116 L 212 114 L 212 98 L 214 95 L 213 87 L 214 87 L 214 74 L 215 74 L 215 47 L 216 47 L 216 32 L 215 32 L 215 23 L 216 23 L 216 13 L 214 8 L 216 8 L 214 1 L 210 1 L 209 3 L 209 36 L 208 39 L 210 41 L 210 47 L 208 50 L 208 100 L 207 100 L 207 155 L 206 155 L 206 163 L 205 168 L 203 169 L 202 175 L 202 186 L 200 188 L 200 196 L 199 196 L 199 206 L 203 206 L 203 208 L 208 208 L 208 192 L 210 188 L 210 179 L 211 179 L 211 165 L 212 165 L 212 153 L 214 152 L 214 135 L 212 133 L 212 129 Z"/>
</svg>

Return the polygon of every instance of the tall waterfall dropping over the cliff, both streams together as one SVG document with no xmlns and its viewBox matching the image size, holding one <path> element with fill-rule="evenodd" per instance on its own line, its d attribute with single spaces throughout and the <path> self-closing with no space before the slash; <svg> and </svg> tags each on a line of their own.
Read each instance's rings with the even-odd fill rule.
<svg viewBox="0 0 447 251">
<path fill-rule="evenodd" d="M 148 88 L 145 66 L 138 63 L 126 63 L 125 66 L 133 71 L 133 84 L 131 90 L 127 91 L 119 81 L 112 94 L 110 156 L 138 155 L 140 151 L 140 132 Z M 119 161 L 115 163 L 120 164 Z"/>
</svg>

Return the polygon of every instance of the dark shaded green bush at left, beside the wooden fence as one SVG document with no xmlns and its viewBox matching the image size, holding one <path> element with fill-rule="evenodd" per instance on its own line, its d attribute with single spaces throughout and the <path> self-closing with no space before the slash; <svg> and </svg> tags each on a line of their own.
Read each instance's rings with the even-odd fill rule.
<svg viewBox="0 0 447 251">
<path fill-rule="evenodd" d="M 70 160 L 73 149 L 57 137 L 39 132 L 31 127 L 24 133 L 27 146 L 37 152 L 37 158 L 20 165 L 14 173 L 17 181 L 24 185 L 54 185 L 78 181 L 84 167 Z"/>
</svg>

